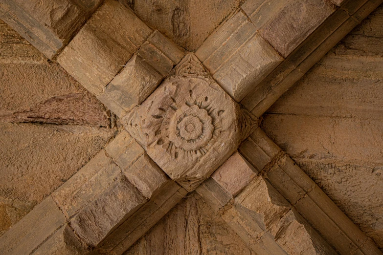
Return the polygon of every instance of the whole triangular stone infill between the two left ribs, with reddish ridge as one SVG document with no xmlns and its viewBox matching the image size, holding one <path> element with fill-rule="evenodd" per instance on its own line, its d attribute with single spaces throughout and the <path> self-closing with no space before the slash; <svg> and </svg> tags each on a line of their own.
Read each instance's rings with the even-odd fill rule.
<svg viewBox="0 0 383 255">
<path fill-rule="evenodd" d="M 0 21 L 0 235 L 113 137 L 109 113 Z"/>
</svg>

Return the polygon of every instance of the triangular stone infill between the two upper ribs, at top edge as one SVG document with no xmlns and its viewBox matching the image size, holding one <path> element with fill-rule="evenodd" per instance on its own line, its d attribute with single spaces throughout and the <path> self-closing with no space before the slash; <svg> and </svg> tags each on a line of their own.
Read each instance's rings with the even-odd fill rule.
<svg viewBox="0 0 383 255">
<path fill-rule="evenodd" d="M 188 51 L 197 50 L 242 0 L 120 0 L 150 27 Z"/>
</svg>

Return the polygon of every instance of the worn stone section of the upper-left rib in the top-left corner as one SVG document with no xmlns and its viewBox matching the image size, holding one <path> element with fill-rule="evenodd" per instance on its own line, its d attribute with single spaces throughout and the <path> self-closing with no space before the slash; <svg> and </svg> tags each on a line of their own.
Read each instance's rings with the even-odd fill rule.
<svg viewBox="0 0 383 255">
<path fill-rule="evenodd" d="M 3 0 L 0 18 L 52 58 L 102 0 Z"/>
</svg>

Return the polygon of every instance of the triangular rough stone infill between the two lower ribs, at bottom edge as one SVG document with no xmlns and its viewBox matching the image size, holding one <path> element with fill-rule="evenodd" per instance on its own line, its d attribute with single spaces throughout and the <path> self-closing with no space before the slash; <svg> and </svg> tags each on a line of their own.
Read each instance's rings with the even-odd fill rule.
<svg viewBox="0 0 383 255">
<path fill-rule="evenodd" d="M 124 255 L 255 255 L 196 193 L 181 200 Z"/>
</svg>

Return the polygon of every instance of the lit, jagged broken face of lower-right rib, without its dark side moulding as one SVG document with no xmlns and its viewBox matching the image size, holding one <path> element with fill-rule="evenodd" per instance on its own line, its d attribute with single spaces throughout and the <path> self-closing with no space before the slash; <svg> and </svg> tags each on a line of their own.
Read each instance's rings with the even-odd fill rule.
<svg viewBox="0 0 383 255">
<path fill-rule="evenodd" d="M 259 255 L 336 252 L 238 152 L 197 192 Z"/>
</svg>

